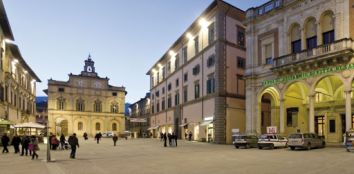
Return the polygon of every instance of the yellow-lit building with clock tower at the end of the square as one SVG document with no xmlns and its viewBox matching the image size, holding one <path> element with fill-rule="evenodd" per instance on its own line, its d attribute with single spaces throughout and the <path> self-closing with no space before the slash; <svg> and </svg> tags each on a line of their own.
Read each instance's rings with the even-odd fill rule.
<svg viewBox="0 0 354 174">
<path fill-rule="evenodd" d="M 68 81 L 48 80 L 48 122 L 51 132 L 81 136 L 85 132 L 125 130 L 124 87 L 112 86 L 109 79 L 95 72 L 94 61 L 85 60 L 79 75 L 69 74 Z"/>
</svg>

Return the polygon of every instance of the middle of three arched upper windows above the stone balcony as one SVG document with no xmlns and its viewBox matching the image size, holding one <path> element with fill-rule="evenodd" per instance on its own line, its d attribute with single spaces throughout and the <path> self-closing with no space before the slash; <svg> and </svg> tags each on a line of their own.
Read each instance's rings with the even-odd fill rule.
<svg viewBox="0 0 354 174">
<path fill-rule="evenodd" d="M 306 48 L 311 50 L 317 47 L 317 26 L 316 19 L 310 18 L 305 23 Z"/>
</svg>

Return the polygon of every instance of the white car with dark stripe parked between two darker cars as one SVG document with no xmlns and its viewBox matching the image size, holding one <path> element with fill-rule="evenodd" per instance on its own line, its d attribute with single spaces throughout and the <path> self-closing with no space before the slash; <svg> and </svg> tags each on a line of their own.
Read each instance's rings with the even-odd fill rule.
<svg viewBox="0 0 354 174">
<path fill-rule="evenodd" d="M 279 147 L 287 147 L 288 140 L 278 134 L 263 134 L 258 139 L 258 148 L 263 149 L 265 147 L 274 149 Z"/>
</svg>

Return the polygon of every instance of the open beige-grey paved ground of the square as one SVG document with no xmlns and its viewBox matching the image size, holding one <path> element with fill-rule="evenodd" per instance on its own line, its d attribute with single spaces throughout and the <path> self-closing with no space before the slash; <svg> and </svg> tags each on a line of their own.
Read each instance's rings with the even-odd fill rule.
<svg viewBox="0 0 354 174">
<path fill-rule="evenodd" d="M 47 163 L 41 145 L 38 160 L 13 154 L 0 154 L 0 174 L 277 174 L 277 173 L 354 173 L 354 153 L 344 148 L 258 150 L 178 141 L 179 146 L 162 146 L 156 139 L 111 139 L 96 144 L 80 140 L 77 159 L 70 151 L 52 151 L 56 161 Z M 12 153 L 11 153 L 12 152 Z"/>
</svg>

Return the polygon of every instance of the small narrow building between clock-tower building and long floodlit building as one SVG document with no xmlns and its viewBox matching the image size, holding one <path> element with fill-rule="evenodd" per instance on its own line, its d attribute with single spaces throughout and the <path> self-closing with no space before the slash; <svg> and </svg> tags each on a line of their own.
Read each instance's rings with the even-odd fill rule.
<svg viewBox="0 0 354 174">
<path fill-rule="evenodd" d="M 135 137 L 149 137 L 150 93 L 129 106 L 129 130 Z"/>
</svg>

